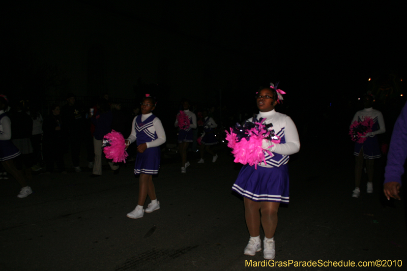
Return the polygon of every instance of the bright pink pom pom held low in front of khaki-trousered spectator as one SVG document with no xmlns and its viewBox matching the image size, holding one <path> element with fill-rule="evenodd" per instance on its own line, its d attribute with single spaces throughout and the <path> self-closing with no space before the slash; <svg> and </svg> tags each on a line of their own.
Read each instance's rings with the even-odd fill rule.
<svg viewBox="0 0 407 271">
<path fill-rule="evenodd" d="M 125 162 L 129 155 L 126 152 L 126 140 L 119 132 L 111 130 L 103 137 L 103 153 L 107 159 L 112 159 L 114 163 Z"/>
</svg>

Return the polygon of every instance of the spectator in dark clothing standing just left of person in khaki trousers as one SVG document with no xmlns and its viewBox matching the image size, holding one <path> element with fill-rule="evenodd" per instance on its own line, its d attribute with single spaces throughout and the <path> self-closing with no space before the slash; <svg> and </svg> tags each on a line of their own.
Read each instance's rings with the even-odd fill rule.
<svg viewBox="0 0 407 271">
<path fill-rule="evenodd" d="M 87 133 L 89 132 L 89 124 L 86 122 L 86 110 L 81 104 L 75 100 L 73 93 L 68 93 L 67 104 L 62 107 L 62 122 L 64 129 L 68 132 L 69 144 L 71 147 L 72 163 L 76 172 L 82 171 L 80 168 L 80 147 L 82 142 L 86 147 L 86 160 L 88 166 L 93 162 L 93 149 L 92 146 L 86 144 Z"/>
</svg>

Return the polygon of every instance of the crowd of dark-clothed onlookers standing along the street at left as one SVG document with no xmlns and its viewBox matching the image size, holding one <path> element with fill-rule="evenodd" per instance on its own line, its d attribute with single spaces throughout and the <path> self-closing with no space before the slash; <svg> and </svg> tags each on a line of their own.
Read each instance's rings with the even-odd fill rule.
<svg viewBox="0 0 407 271">
<path fill-rule="evenodd" d="M 21 100 L 8 104 L 4 111 L 11 121 L 11 141 L 21 151 L 21 155 L 14 159 L 14 164 L 26 179 L 32 178 L 33 171 L 52 173 L 56 170 L 67 173 L 64 163 L 64 155 L 67 153 L 70 153 L 74 170 L 82 171 L 81 148 L 85 149 L 89 168 L 98 167 L 92 176 L 101 174 L 101 153 L 95 154 L 95 137 L 101 147 L 105 131 L 114 129 L 127 136 L 131 129 L 131 119 L 138 113 L 138 108 L 132 114 L 125 113 L 120 103 L 109 102 L 107 94 L 88 107 L 76 100 L 73 93 L 66 96 L 65 105 L 54 103 L 48 108 L 49 114 L 44 115 L 36 103 Z M 119 172 L 117 165 L 112 168 Z M 8 179 L 3 168 L 0 173 L 0 178 Z"/>
</svg>

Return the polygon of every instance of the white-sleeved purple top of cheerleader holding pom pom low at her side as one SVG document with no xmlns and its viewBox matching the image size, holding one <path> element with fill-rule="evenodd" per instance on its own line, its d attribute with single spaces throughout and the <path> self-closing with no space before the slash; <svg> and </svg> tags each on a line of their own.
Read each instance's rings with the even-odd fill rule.
<svg viewBox="0 0 407 271">
<path fill-rule="evenodd" d="M 136 139 L 138 145 L 146 143 L 147 148 L 164 144 L 166 137 L 160 119 L 153 115 L 153 113 L 135 116 L 131 134 L 127 140 L 133 143 Z"/>
</svg>

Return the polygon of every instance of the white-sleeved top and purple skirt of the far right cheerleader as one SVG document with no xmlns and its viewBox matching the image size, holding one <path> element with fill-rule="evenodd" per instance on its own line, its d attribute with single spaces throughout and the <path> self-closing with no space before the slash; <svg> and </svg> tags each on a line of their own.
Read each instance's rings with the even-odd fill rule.
<svg viewBox="0 0 407 271">
<path fill-rule="evenodd" d="M 359 153 L 363 148 L 364 159 L 380 158 L 382 157 L 382 153 L 380 151 L 379 140 L 377 139 L 376 135 L 382 134 L 386 131 L 383 115 L 380 111 L 373 108 L 365 108 L 355 114 L 353 121 L 357 120 L 358 122 L 361 122 L 364 121 L 366 117 L 370 117 L 371 119 L 373 119 L 373 135 L 366 137 L 366 140 L 363 143 L 355 142 L 354 155 L 359 156 Z"/>
</svg>

